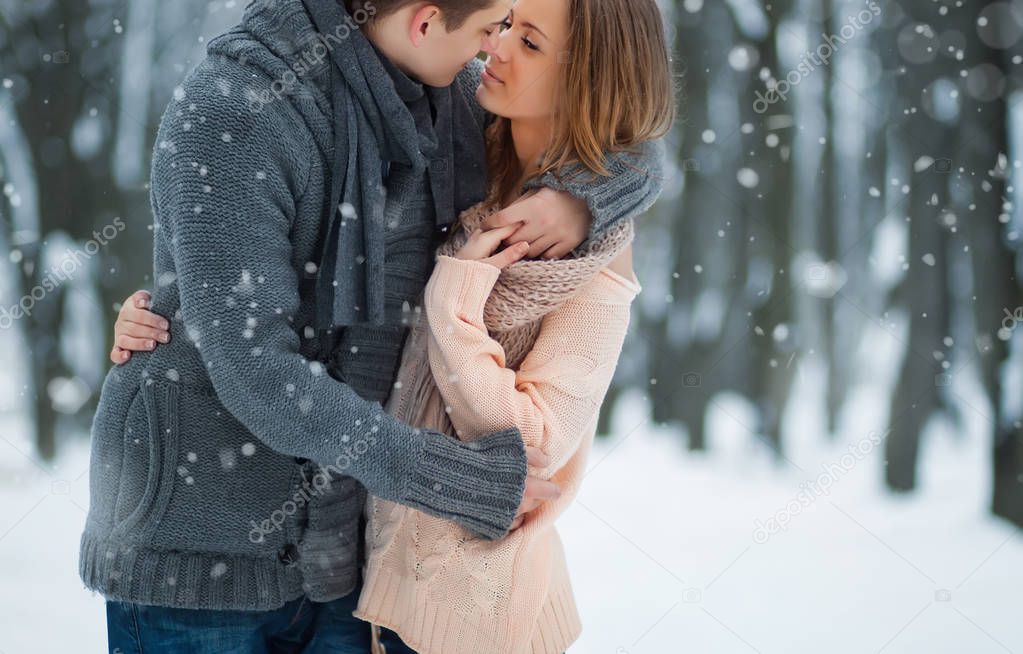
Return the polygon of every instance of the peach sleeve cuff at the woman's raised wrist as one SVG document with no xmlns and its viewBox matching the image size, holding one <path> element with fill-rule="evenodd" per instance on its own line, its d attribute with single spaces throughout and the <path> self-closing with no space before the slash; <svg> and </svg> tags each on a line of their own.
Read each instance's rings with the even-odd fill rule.
<svg viewBox="0 0 1023 654">
<path fill-rule="evenodd" d="M 483 308 L 500 276 L 501 269 L 489 263 L 441 255 L 430 277 L 427 311 L 464 314 L 482 324 Z"/>
</svg>

